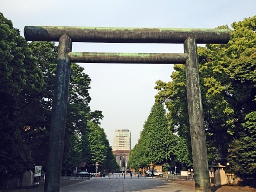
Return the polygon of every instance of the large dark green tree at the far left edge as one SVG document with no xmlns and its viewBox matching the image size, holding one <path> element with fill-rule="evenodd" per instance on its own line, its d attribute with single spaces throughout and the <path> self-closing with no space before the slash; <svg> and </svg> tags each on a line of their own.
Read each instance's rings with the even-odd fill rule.
<svg viewBox="0 0 256 192">
<path fill-rule="evenodd" d="M 32 166 L 26 131 L 40 119 L 38 93 L 44 83 L 26 40 L 0 13 L 0 174 Z"/>
</svg>

